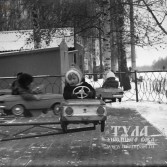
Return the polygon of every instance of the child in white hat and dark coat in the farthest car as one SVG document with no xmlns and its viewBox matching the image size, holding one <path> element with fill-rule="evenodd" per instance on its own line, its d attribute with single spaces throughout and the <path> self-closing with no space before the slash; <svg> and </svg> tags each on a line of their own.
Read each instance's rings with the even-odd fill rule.
<svg viewBox="0 0 167 167">
<path fill-rule="evenodd" d="M 104 80 L 102 88 L 118 88 L 119 86 L 119 82 L 115 80 L 115 74 L 112 71 L 105 74 Z"/>
</svg>

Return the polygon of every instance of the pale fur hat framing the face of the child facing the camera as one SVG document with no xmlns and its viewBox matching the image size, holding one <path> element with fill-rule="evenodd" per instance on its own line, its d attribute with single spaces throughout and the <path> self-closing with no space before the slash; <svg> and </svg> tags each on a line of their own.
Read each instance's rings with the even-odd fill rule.
<svg viewBox="0 0 167 167">
<path fill-rule="evenodd" d="M 77 75 L 79 83 L 82 81 L 83 79 L 82 71 L 77 66 L 72 65 L 71 68 L 65 74 L 65 78 L 68 83 L 69 83 L 68 75 L 71 73 L 74 73 Z"/>
</svg>

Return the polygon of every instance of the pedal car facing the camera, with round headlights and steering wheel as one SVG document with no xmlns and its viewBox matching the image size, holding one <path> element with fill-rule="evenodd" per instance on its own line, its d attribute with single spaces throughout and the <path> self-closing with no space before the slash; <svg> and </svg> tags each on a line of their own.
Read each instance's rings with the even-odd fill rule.
<svg viewBox="0 0 167 167">
<path fill-rule="evenodd" d="M 67 132 L 69 124 L 89 124 L 94 127 L 101 124 L 101 132 L 104 131 L 105 121 L 107 119 L 106 105 L 99 99 L 84 99 L 88 96 L 86 86 L 78 86 L 73 93 L 80 99 L 70 99 L 62 102 L 60 107 L 60 123 L 63 132 Z"/>
</svg>

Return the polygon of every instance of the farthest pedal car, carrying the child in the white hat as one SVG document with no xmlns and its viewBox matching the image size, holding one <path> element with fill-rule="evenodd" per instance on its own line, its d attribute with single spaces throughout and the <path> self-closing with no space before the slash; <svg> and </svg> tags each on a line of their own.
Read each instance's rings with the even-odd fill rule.
<svg viewBox="0 0 167 167">
<path fill-rule="evenodd" d="M 116 102 L 116 99 L 121 102 L 123 93 L 121 88 L 96 88 L 96 96 L 105 102 Z"/>
</svg>

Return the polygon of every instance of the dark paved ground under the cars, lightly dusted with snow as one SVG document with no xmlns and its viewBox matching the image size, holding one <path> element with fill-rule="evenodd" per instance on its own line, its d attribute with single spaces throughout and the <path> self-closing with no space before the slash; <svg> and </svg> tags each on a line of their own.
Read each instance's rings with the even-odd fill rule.
<svg viewBox="0 0 167 167">
<path fill-rule="evenodd" d="M 62 133 L 52 126 L 0 127 L 0 166 L 166 166 L 167 140 L 136 110 L 107 108 L 105 131 L 91 125 L 69 125 Z M 33 118 L 0 119 L 3 122 L 58 122 L 49 112 Z M 30 128 L 30 129 L 28 129 Z M 54 128 L 54 129 L 53 129 Z M 26 130 L 24 132 L 24 130 Z M 20 132 L 20 133 L 19 133 Z M 36 137 L 12 139 L 34 135 Z M 40 136 L 45 133 L 46 135 Z M 49 135 L 48 133 L 52 134 Z"/>
</svg>

